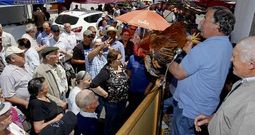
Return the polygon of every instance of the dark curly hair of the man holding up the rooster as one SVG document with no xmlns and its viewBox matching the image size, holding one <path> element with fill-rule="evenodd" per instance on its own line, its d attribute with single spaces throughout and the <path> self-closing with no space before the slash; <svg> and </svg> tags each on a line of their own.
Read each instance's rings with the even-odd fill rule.
<svg viewBox="0 0 255 135">
<path fill-rule="evenodd" d="M 234 30 L 235 16 L 228 8 L 215 6 L 208 8 L 208 10 L 214 10 L 214 23 L 219 24 L 220 32 L 229 35 Z"/>
</svg>

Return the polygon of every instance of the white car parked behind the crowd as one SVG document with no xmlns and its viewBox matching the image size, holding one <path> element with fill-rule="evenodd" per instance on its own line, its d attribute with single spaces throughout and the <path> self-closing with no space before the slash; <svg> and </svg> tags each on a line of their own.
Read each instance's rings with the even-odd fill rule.
<svg viewBox="0 0 255 135">
<path fill-rule="evenodd" d="M 83 39 L 83 32 L 89 26 L 96 28 L 97 20 L 102 16 L 101 11 L 64 11 L 58 15 L 53 24 L 58 25 L 61 29 L 65 23 L 70 23 L 72 31 L 77 40 Z"/>
</svg>

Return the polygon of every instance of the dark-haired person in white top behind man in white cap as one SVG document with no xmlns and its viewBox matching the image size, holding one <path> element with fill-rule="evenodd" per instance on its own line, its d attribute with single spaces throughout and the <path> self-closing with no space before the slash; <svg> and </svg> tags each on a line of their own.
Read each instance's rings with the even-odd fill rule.
<svg viewBox="0 0 255 135">
<path fill-rule="evenodd" d="M 40 64 L 39 54 L 34 47 L 31 47 L 31 43 L 26 38 L 21 38 L 18 40 L 19 48 L 25 50 L 25 61 L 26 64 L 32 69 L 35 68 Z"/>
</svg>

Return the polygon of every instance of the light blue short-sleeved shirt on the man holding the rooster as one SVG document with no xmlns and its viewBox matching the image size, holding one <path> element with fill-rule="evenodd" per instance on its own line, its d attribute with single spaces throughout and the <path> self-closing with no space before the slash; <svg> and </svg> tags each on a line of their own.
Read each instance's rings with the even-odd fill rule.
<svg viewBox="0 0 255 135">
<path fill-rule="evenodd" d="M 228 36 L 215 36 L 195 46 L 184 57 L 181 66 L 188 77 L 178 81 L 174 93 L 184 116 L 194 119 L 215 111 L 230 68 L 232 49 Z"/>
</svg>

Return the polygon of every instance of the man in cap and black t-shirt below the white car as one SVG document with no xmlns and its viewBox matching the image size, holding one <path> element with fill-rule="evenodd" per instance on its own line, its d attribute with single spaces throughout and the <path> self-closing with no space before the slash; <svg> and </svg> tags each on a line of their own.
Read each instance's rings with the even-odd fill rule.
<svg viewBox="0 0 255 135">
<path fill-rule="evenodd" d="M 85 30 L 83 32 L 83 41 L 74 47 L 71 63 L 76 73 L 81 70 L 85 70 L 85 58 L 92 50 L 91 43 L 94 38 L 95 35 L 92 33 L 92 31 Z"/>
</svg>

